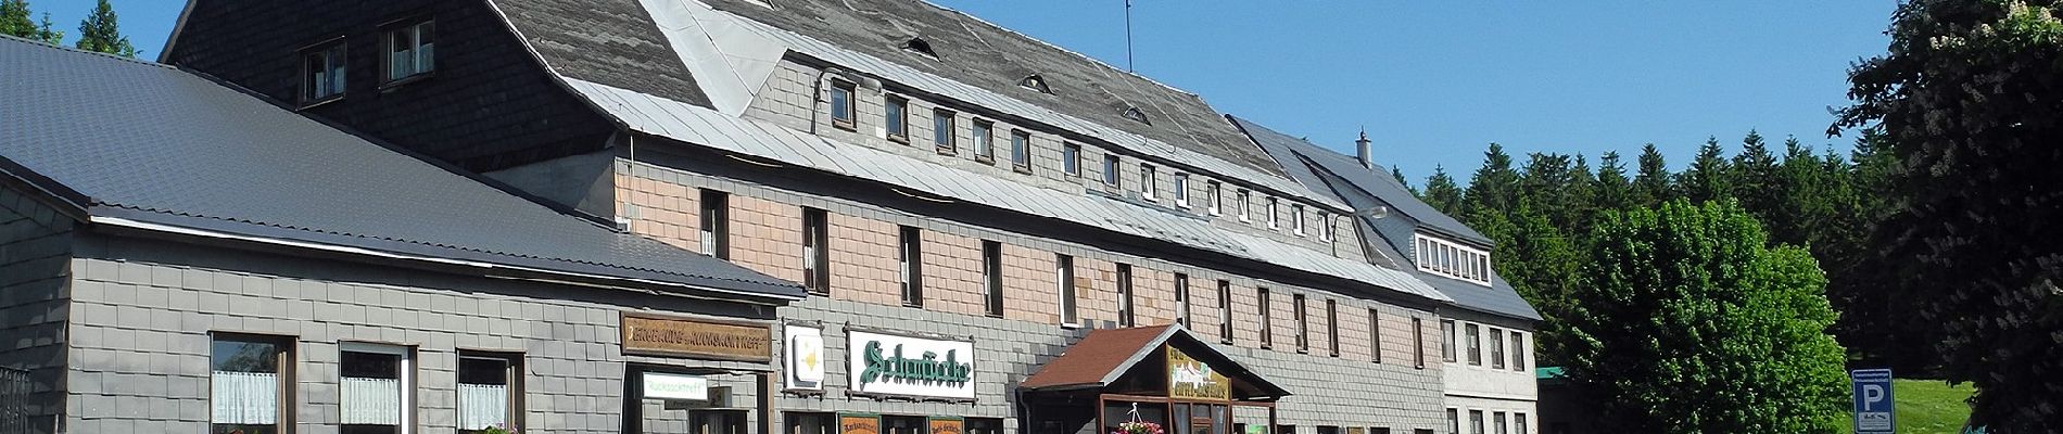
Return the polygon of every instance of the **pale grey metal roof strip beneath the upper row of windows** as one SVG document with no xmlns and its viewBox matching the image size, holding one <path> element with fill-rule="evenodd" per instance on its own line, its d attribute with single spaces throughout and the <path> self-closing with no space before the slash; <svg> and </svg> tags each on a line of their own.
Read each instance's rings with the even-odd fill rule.
<svg viewBox="0 0 2063 434">
<path fill-rule="evenodd" d="M 1417 278 L 1411 278 L 1409 272 L 1376 267 L 1256 234 L 1217 228 L 1201 218 L 1184 218 L 1120 200 L 1089 195 L 1079 185 L 1075 191 L 1038 187 L 930 160 L 943 158 L 932 152 L 912 150 L 910 154 L 897 154 L 629 88 L 578 78 L 567 78 L 567 84 L 609 115 L 629 123 L 633 132 L 778 160 L 782 165 L 871 179 L 947 200 L 1143 234 L 1291 269 L 1368 282 L 1432 300 L 1448 300 Z"/>
</svg>

